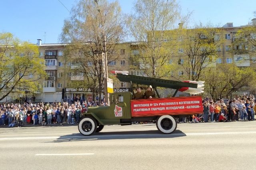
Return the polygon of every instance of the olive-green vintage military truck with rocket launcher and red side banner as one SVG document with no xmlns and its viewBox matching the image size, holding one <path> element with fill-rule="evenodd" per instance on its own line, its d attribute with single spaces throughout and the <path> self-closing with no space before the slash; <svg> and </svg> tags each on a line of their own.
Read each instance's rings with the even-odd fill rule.
<svg viewBox="0 0 256 170">
<path fill-rule="evenodd" d="M 203 112 L 202 97 L 174 97 L 182 87 L 197 88 L 197 84 L 117 74 L 122 82 L 152 85 L 158 98 L 132 100 L 131 92 L 110 94 L 110 106 L 89 107 L 78 124 L 81 134 L 100 132 L 105 125 L 131 125 L 132 122 L 156 122 L 157 129 L 170 134 L 177 128 L 177 118 Z M 156 87 L 176 89 L 171 98 L 160 98 Z"/>
</svg>

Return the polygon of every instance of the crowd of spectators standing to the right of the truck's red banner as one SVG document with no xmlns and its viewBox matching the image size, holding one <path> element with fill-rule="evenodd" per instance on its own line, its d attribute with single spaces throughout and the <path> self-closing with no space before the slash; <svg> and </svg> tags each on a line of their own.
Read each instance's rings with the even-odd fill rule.
<svg viewBox="0 0 256 170">
<path fill-rule="evenodd" d="M 199 122 L 236 122 L 254 121 L 255 98 L 253 95 L 240 96 L 233 99 L 217 99 L 206 97 L 203 100 L 204 112 L 182 118 L 180 123 Z"/>
</svg>

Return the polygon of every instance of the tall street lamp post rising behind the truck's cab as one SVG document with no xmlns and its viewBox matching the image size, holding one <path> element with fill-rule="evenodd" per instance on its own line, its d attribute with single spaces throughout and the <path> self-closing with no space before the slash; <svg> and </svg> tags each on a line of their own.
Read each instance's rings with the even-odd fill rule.
<svg viewBox="0 0 256 170">
<path fill-rule="evenodd" d="M 98 6 L 98 1 L 94 0 L 94 2 L 96 2 L 97 6 Z M 99 6 L 98 6 L 99 7 Z M 102 38 L 103 38 L 103 51 L 104 51 L 104 66 L 105 66 L 105 75 L 104 75 L 104 96 L 105 96 L 105 102 L 108 102 L 108 104 L 110 104 L 110 100 L 109 100 L 109 93 L 108 93 L 108 61 L 107 61 L 107 48 L 106 48 L 106 36 L 105 36 L 105 30 L 104 30 L 104 22 L 102 19 L 102 14 L 100 12 L 100 9 L 98 8 L 98 12 L 100 13 L 101 16 L 101 22 L 102 22 L 102 28 L 103 28 L 103 34 L 102 34 Z"/>
</svg>

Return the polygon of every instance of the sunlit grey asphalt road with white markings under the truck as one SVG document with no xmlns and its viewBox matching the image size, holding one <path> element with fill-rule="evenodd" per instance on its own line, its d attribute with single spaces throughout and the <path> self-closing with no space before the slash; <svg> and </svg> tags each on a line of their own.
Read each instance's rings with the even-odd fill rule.
<svg viewBox="0 0 256 170">
<path fill-rule="evenodd" d="M 256 121 L 105 126 L 82 136 L 77 126 L 0 128 L 1 170 L 255 170 Z"/>
</svg>

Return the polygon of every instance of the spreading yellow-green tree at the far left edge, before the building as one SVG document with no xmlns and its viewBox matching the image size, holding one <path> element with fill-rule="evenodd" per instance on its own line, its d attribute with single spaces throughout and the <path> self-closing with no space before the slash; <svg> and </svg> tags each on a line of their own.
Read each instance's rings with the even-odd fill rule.
<svg viewBox="0 0 256 170">
<path fill-rule="evenodd" d="M 21 42 L 11 33 L 0 33 L 0 100 L 15 88 L 40 90 L 38 81 L 44 80 L 46 73 L 44 60 L 38 56 L 38 46 Z"/>
</svg>

